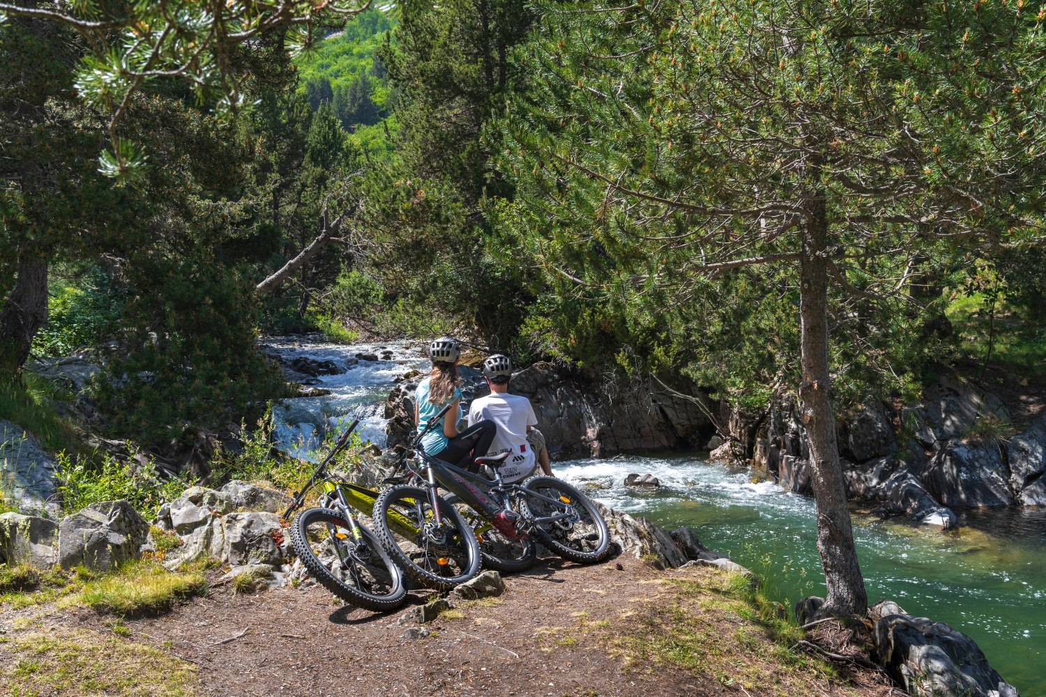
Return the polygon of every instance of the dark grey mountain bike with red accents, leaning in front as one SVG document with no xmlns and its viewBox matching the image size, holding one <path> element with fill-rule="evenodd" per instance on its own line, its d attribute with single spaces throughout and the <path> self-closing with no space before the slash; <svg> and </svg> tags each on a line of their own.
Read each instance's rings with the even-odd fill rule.
<svg viewBox="0 0 1046 697">
<path fill-rule="evenodd" d="M 473 521 L 477 536 L 482 539 L 483 561 L 492 568 L 513 572 L 532 565 L 537 545 L 531 534 L 552 552 L 571 561 L 593 563 L 606 558 L 610 550 L 607 522 L 588 496 L 566 482 L 537 475 L 522 485 L 504 484 L 498 467 L 508 454 L 475 458 L 477 464 L 493 468 L 494 479 L 426 454 L 420 447 L 422 438 L 433 423 L 439 422 L 446 411 L 430 419 L 411 443 L 414 455 L 407 462 L 411 463 L 408 465 L 411 475 L 419 486 L 392 487 L 374 503 L 374 532 L 408 575 L 418 571 L 397 556 L 395 540 L 385 532 L 383 514 L 394 510 L 401 497 L 419 496 L 422 491 L 434 496 L 440 486 L 475 512 Z M 482 522 L 478 524 L 477 519 Z"/>
</svg>

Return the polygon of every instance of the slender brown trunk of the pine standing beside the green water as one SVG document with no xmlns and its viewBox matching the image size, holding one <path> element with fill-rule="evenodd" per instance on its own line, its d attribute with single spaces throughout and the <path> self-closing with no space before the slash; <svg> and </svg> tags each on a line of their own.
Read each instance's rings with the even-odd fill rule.
<svg viewBox="0 0 1046 697">
<path fill-rule="evenodd" d="M 799 316 L 802 326 L 802 384 L 799 398 L 810 442 L 817 505 L 817 551 L 827 598 L 822 614 L 860 615 L 868 607 L 857 561 L 846 486 L 839 463 L 836 419 L 828 374 L 827 220 L 824 202 L 811 204 L 802 234 Z"/>
</svg>

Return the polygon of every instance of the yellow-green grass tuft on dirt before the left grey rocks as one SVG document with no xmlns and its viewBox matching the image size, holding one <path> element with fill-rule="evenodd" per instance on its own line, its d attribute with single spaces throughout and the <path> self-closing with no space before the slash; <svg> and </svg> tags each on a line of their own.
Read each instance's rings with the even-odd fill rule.
<svg viewBox="0 0 1046 697">
<path fill-rule="evenodd" d="M 202 572 L 168 572 L 155 563 L 139 561 L 88 581 L 79 601 L 100 612 L 130 614 L 165 610 L 178 600 L 206 590 Z"/>
</svg>

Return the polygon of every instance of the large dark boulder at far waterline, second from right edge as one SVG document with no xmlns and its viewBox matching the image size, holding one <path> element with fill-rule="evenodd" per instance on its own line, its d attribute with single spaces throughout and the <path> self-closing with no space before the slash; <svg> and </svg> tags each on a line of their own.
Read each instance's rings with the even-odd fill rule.
<svg viewBox="0 0 1046 697">
<path fill-rule="evenodd" d="M 1014 503 L 1002 452 L 994 444 L 948 441 L 926 464 L 923 484 L 946 506 L 996 507 Z"/>
</svg>

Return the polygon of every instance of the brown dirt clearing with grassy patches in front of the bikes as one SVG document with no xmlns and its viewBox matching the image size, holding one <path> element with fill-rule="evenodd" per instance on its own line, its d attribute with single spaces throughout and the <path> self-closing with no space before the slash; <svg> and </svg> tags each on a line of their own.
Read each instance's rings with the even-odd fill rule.
<svg viewBox="0 0 1046 697">
<path fill-rule="evenodd" d="M 257 595 L 215 587 L 166 614 L 122 621 L 83 608 L 4 612 L 0 684 L 10 678 L 6 694 L 41 697 L 896 694 L 881 673 L 841 672 L 772 640 L 731 594 L 735 580 L 718 571 L 544 559 L 506 582 L 502 597 L 458 603 L 417 640 L 403 637 L 418 626 L 399 624 L 403 610 L 373 614 L 315 585 Z M 427 600 L 422 591 L 411 598 Z M 40 652 L 27 663 L 36 637 L 83 644 L 88 635 L 132 653 L 158 650 L 173 667 L 154 661 L 151 670 L 188 668 L 195 683 L 165 692 L 162 676 L 142 674 L 137 688 L 131 678 L 130 688 L 92 692 L 85 686 L 109 684 L 105 666 L 93 667 L 91 680 L 61 682 L 46 672 L 66 670 L 61 655 Z M 29 677 L 19 672 L 27 665 L 37 671 Z"/>
</svg>

